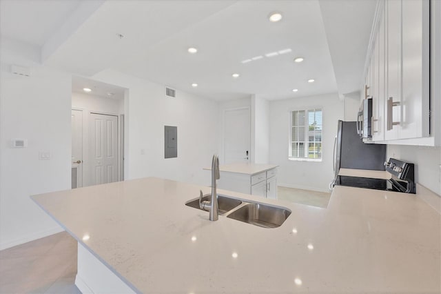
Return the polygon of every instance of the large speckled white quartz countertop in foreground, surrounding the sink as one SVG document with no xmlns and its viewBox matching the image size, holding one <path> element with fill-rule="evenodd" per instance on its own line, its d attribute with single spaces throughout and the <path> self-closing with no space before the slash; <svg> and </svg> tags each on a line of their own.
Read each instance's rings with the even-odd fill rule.
<svg viewBox="0 0 441 294">
<path fill-rule="evenodd" d="M 260 228 L 185 206 L 196 186 L 143 178 L 32 196 L 142 293 L 440 293 L 441 219 L 412 194 L 336 186 Z M 90 238 L 83 241 L 83 235 Z"/>
</svg>

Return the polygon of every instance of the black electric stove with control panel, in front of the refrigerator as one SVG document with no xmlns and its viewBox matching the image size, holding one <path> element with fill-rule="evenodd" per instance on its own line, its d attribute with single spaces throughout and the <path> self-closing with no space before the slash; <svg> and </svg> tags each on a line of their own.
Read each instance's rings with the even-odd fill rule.
<svg viewBox="0 0 441 294">
<path fill-rule="evenodd" d="M 398 159 L 389 159 L 384 162 L 386 171 L 391 174 L 390 179 L 373 179 L 369 177 L 349 177 L 338 175 L 335 184 L 375 190 L 389 190 L 415 194 L 414 166 Z"/>
</svg>

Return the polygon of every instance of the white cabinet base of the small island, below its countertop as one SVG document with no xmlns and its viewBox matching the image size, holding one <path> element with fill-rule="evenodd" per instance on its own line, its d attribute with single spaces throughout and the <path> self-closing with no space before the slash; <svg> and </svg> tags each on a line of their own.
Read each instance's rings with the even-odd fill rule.
<svg viewBox="0 0 441 294">
<path fill-rule="evenodd" d="M 220 171 L 218 188 L 277 199 L 277 168 L 255 175 Z"/>
</svg>

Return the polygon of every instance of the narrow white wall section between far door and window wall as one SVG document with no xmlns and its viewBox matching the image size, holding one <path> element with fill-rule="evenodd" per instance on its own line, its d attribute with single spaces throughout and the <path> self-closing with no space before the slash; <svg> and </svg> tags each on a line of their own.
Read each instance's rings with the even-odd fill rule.
<svg viewBox="0 0 441 294">
<path fill-rule="evenodd" d="M 252 97 L 252 162 L 269 163 L 269 101 Z"/>
</svg>

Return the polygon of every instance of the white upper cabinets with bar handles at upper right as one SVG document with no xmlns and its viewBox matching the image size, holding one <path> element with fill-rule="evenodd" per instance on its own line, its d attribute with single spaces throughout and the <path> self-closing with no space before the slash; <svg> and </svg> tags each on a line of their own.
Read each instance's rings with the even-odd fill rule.
<svg viewBox="0 0 441 294">
<path fill-rule="evenodd" d="M 429 1 L 379 1 L 373 34 L 372 140 L 429 137 Z"/>
</svg>

